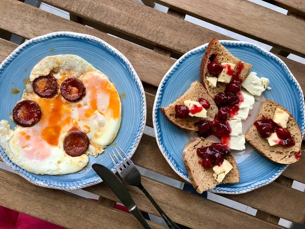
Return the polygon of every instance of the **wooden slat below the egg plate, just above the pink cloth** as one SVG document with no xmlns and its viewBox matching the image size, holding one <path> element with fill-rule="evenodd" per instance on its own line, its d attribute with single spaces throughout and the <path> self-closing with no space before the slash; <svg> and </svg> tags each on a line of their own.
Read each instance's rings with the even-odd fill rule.
<svg viewBox="0 0 305 229">
<path fill-rule="evenodd" d="M 0 205 L 67 228 L 142 228 L 131 215 L 68 192 L 33 185 L 0 169 Z M 153 228 L 165 228 L 149 222 Z"/>
</svg>

